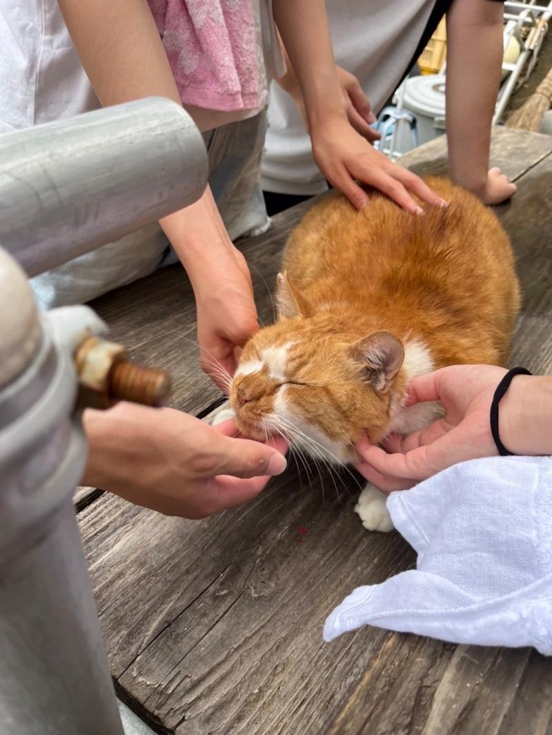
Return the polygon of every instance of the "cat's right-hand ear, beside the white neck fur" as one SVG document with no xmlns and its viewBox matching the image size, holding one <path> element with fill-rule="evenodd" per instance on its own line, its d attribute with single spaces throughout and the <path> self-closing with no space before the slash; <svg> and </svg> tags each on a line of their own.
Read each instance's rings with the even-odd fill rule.
<svg viewBox="0 0 552 735">
<path fill-rule="evenodd" d="M 389 390 L 391 381 L 401 369 L 404 348 L 390 331 L 373 331 L 349 348 L 349 354 L 362 367 L 365 381 L 379 392 Z"/>
</svg>

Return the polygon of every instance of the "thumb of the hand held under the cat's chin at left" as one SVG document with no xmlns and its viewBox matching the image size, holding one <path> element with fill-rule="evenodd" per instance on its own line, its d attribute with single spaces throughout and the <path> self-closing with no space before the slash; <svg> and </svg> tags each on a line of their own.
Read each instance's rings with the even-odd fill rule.
<svg viewBox="0 0 552 735">
<path fill-rule="evenodd" d="M 265 477 L 281 475 L 287 467 L 282 453 L 260 442 L 221 436 L 218 475 Z"/>
</svg>

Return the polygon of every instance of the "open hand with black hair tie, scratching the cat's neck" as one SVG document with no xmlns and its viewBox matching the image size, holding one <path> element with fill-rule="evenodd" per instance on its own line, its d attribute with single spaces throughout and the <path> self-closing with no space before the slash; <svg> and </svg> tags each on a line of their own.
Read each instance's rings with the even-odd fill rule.
<svg viewBox="0 0 552 735">
<path fill-rule="evenodd" d="M 415 378 L 408 388 L 407 405 L 440 401 L 445 416 L 406 437 L 392 435 L 383 449 L 364 437 L 356 446 L 356 469 L 382 492 L 392 492 L 412 487 L 457 462 L 498 454 L 489 417 L 492 397 L 505 373 L 492 365 L 454 365 Z M 523 376 L 515 379 L 519 380 Z M 509 392 L 501 409 L 503 404 L 506 408 Z M 501 437 L 507 442 L 502 410 L 500 417 Z"/>
</svg>

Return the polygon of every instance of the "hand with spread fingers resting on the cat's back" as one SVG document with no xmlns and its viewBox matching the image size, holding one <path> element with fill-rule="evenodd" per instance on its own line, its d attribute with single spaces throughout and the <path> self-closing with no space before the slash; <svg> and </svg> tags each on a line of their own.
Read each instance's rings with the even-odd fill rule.
<svg viewBox="0 0 552 735">
<path fill-rule="evenodd" d="M 416 215 L 423 209 L 412 194 L 437 207 L 446 202 L 419 176 L 375 151 L 348 123 L 345 115 L 331 116 L 311 126 L 312 151 L 320 171 L 340 189 L 356 209 L 368 204 L 368 195 L 354 179 L 369 184 L 393 199 L 400 207 Z"/>
</svg>

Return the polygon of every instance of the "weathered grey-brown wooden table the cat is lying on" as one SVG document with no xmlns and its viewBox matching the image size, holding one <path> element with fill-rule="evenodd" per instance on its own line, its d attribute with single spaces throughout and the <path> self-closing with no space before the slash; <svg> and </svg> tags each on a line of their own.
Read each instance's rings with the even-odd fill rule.
<svg viewBox="0 0 552 735">
<path fill-rule="evenodd" d="M 437 140 L 406 159 L 445 171 Z M 552 373 L 552 137 L 497 129 L 492 162 L 519 186 L 498 212 L 512 236 L 523 315 L 512 365 Z M 290 229 L 309 207 L 243 243 L 263 320 Z M 173 373 L 172 405 L 203 417 L 182 268 L 93 306 L 136 359 Z M 98 490 L 77 508 L 118 693 L 160 733 L 431 735 L 552 733 L 552 661 L 534 650 L 456 646 L 363 628 L 327 645 L 326 614 L 360 584 L 412 567 L 398 534 L 369 534 L 329 478 L 290 470 L 252 503 L 203 521 L 163 517 Z M 305 531 L 307 532 L 305 533 Z M 98 734 L 100 735 L 100 734 Z M 104 734 L 101 734 L 104 735 Z M 108 734 L 105 734 L 108 735 Z"/>
</svg>

